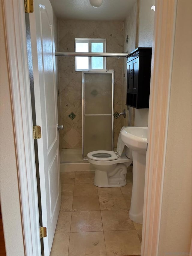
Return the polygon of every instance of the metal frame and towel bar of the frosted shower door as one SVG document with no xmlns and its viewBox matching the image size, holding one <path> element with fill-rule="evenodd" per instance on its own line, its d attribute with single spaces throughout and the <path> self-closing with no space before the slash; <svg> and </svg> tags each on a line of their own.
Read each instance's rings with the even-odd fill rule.
<svg viewBox="0 0 192 256">
<path fill-rule="evenodd" d="M 105 69 L 105 70 L 86 70 L 82 71 L 82 160 L 87 160 L 87 158 L 84 158 L 84 112 L 85 112 L 85 104 L 84 104 L 84 98 L 85 98 L 85 74 L 111 74 L 112 75 L 112 112 L 111 112 L 111 121 L 112 121 L 112 143 L 111 143 L 111 150 L 113 151 L 113 137 L 114 137 L 114 69 Z M 88 116 L 110 116 L 109 114 L 93 114 Z"/>
</svg>

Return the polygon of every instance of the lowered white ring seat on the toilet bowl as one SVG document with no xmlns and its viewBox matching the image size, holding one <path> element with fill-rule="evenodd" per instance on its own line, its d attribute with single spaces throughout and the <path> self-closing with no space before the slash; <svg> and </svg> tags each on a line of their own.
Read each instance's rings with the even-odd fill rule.
<svg viewBox="0 0 192 256">
<path fill-rule="evenodd" d="M 95 161 L 112 161 L 118 159 L 114 151 L 96 150 L 89 152 L 87 157 Z"/>
</svg>

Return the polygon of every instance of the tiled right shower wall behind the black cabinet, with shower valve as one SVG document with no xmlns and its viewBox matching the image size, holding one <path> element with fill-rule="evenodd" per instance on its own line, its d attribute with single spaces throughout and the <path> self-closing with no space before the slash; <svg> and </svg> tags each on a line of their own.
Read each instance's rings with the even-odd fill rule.
<svg viewBox="0 0 192 256">
<path fill-rule="evenodd" d="M 123 51 L 131 53 L 136 48 L 136 29 L 137 26 L 137 2 L 128 11 L 127 18 L 124 20 L 123 30 Z M 126 41 L 128 36 L 128 43 Z M 122 126 L 128 125 L 128 111 L 126 104 L 127 93 L 127 58 L 123 59 L 123 87 L 122 87 L 122 110 L 126 110 L 126 118 L 122 118 Z"/>
</svg>

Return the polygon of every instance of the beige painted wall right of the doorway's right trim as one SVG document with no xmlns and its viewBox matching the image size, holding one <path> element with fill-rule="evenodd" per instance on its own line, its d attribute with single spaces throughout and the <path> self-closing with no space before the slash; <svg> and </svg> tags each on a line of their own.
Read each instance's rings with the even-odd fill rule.
<svg viewBox="0 0 192 256">
<path fill-rule="evenodd" d="M 189 255 L 192 236 L 192 2 L 178 0 L 158 256 Z"/>
</svg>

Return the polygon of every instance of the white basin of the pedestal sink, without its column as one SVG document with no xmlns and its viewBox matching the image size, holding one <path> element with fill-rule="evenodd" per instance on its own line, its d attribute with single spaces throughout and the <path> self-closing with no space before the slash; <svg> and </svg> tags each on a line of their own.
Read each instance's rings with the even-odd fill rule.
<svg viewBox="0 0 192 256">
<path fill-rule="evenodd" d="M 121 139 L 128 148 L 146 153 L 147 131 L 147 127 L 126 127 L 121 132 Z"/>
</svg>

